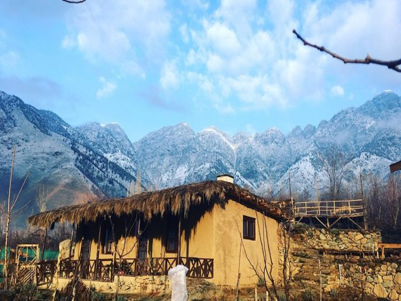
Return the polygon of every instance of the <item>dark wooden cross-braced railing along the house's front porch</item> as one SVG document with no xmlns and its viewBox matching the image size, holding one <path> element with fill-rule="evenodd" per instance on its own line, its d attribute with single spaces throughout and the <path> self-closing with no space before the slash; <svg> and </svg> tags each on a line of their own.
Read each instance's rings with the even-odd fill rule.
<svg viewBox="0 0 401 301">
<path fill-rule="evenodd" d="M 213 259 L 182 257 L 180 264 L 188 268 L 187 276 L 192 278 L 213 278 Z M 113 281 L 117 274 L 123 276 L 167 275 L 177 265 L 177 258 L 152 257 L 145 259 L 123 258 L 99 260 L 62 260 L 60 277 L 72 278 L 74 274 L 82 279 Z"/>
</svg>

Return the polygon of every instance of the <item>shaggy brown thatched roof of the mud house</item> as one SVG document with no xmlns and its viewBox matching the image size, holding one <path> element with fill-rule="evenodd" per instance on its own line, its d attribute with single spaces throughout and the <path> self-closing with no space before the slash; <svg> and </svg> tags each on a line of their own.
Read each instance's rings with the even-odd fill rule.
<svg viewBox="0 0 401 301">
<path fill-rule="evenodd" d="M 131 197 L 97 201 L 82 205 L 72 205 L 42 212 L 28 218 L 31 225 L 42 228 L 52 223 L 95 221 L 99 216 L 114 214 L 120 216 L 132 212 L 140 212 L 147 219 L 153 215 L 162 216 L 164 213 L 188 212 L 191 205 L 217 201 L 233 201 L 265 212 L 275 218 L 281 218 L 279 206 L 265 202 L 262 198 L 248 190 L 224 181 L 206 181 L 155 192 L 144 192 Z"/>
</svg>

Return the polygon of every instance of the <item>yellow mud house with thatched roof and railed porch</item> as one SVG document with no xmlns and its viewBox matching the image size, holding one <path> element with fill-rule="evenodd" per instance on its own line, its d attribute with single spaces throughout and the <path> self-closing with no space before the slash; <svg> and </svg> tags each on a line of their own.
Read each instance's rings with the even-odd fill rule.
<svg viewBox="0 0 401 301">
<path fill-rule="evenodd" d="M 28 220 L 41 228 L 76 225 L 75 251 L 59 263 L 59 278 L 78 272 L 83 279 L 112 282 L 117 274 L 166 275 L 180 263 L 188 267 L 188 277 L 236 285 L 239 270 L 241 284 L 258 281 L 249 261 L 257 266 L 263 260 L 261 239 L 269 240 L 268 258 L 278 276 L 280 218 L 277 205 L 224 175 L 217 181 L 63 207 Z"/>
</svg>

